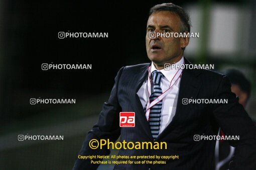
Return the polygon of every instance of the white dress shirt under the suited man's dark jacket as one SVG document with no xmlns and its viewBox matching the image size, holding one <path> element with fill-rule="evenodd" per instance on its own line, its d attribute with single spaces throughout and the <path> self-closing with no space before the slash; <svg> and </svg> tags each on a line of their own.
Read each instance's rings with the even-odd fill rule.
<svg viewBox="0 0 256 170">
<path fill-rule="evenodd" d="M 175 64 L 183 64 L 184 62 L 184 57 L 182 57 L 178 62 Z M 154 71 L 157 70 L 153 62 L 151 63 L 151 70 L 150 74 Z M 164 76 L 161 79 L 160 86 L 162 88 L 162 91 L 166 91 L 171 83 L 172 78 L 174 77 L 175 73 L 178 71 L 178 69 L 170 69 L 170 70 L 165 70 L 161 69 L 161 71 Z M 166 128 L 166 126 L 172 121 L 175 112 L 176 112 L 176 106 L 177 106 L 177 100 L 178 100 L 178 93 L 179 93 L 179 87 L 180 87 L 180 79 L 176 81 L 176 83 L 172 86 L 171 91 L 163 98 L 162 101 L 162 109 L 161 109 L 161 122 L 160 122 L 160 131 L 159 134 Z M 149 93 L 147 91 L 147 82 L 148 78 L 144 81 L 142 84 L 141 88 L 137 92 L 139 95 L 139 98 L 141 100 L 143 108 L 145 108 L 147 101 L 149 99 Z M 153 84 L 153 82 L 152 82 Z M 153 85 L 151 85 L 153 88 Z M 153 89 L 151 89 L 153 91 Z M 146 116 L 146 114 L 145 114 Z M 146 117 L 148 119 L 148 116 Z"/>
</svg>

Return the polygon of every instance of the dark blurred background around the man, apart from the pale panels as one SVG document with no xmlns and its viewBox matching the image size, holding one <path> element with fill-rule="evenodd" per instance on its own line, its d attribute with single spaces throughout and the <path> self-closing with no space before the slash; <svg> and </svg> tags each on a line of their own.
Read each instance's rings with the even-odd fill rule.
<svg viewBox="0 0 256 170">
<path fill-rule="evenodd" d="M 72 167 L 89 126 L 81 128 L 81 134 L 67 134 L 64 141 L 28 141 L 23 145 L 17 142 L 17 135 L 26 132 L 63 134 L 61 130 L 42 132 L 38 128 L 48 129 L 53 125 L 97 116 L 103 101 L 109 97 L 118 69 L 125 65 L 149 62 L 145 46 L 148 13 L 150 7 L 162 2 L 169 1 L 0 2 L 0 143 L 8 146 L 0 148 L 1 157 L 5 156 L 0 158 L 1 169 Z M 194 3 L 202 8 L 213 3 L 255 6 L 253 1 L 242 0 L 172 2 L 181 6 Z M 59 31 L 108 32 L 108 38 L 59 39 Z M 253 39 L 255 34 L 251 36 Z M 211 53 L 203 49 L 200 56 L 190 55 L 189 59 L 214 63 L 219 70 L 223 68 L 223 64 L 231 64 L 238 69 L 240 65 L 248 66 L 248 78 L 252 81 L 253 92 L 255 91 L 254 55 L 246 60 L 239 57 L 235 60 L 225 57 L 216 59 L 210 56 Z M 92 64 L 92 69 L 41 69 L 42 63 L 52 62 L 88 63 Z M 76 104 L 31 105 L 30 98 L 38 97 L 76 98 Z M 70 133 L 73 134 L 68 125 L 63 130 L 71 130 Z M 12 155 L 17 156 L 17 161 Z M 36 155 L 41 157 L 33 159 Z"/>
</svg>

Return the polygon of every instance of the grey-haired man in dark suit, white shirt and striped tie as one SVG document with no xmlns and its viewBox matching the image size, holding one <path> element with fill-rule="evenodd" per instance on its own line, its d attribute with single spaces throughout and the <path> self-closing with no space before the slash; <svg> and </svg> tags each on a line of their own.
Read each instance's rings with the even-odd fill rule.
<svg viewBox="0 0 256 170">
<path fill-rule="evenodd" d="M 216 140 L 196 141 L 194 135 L 217 135 L 221 127 L 226 135 L 239 135 L 239 140 L 230 140 L 230 145 L 236 147 L 230 169 L 255 168 L 256 129 L 231 92 L 227 76 L 206 69 L 163 69 L 165 64 L 191 64 L 183 57 L 189 37 L 150 38 L 151 32 L 190 32 L 189 16 L 173 3 L 151 8 L 146 47 L 152 62 L 125 66 L 118 71 L 109 100 L 78 154 L 107 155 L 108 148 L 92 149 L 89 141 L 115 141 L 120 136 L 120 141 L 126 142 L 165 141 L 167 148 L 120 148 L 118 155 L 179 158 L 165 160 L 165 164 L 116 164 L 114 169 L 214 169 Z M 183 98 L 227 99 L 228 103 L 183 104 Z M 119 126 L 121 111 L 135 112 L 135 127 Z M 90 161 L 77 159 L 73 169 L 96 169 L 98 164 Z"/>
</svg>

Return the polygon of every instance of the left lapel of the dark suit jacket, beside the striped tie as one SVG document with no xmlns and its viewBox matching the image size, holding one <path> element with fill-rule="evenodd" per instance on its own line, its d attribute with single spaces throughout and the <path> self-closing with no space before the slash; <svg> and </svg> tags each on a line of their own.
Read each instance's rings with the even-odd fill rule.
<svg viewBox="0 0 256 170">
<path fill-rule="evenodd" d="M 132 98 L 131 102 L 132 102 L 133 108 L 135 110 L 135 114 L 137 115 L 137 118 L 139 119 L 138 121 L 142 124 L 142 127 L 144 128 L 146 134 L 151 139 L 153 139 L 151 131 L 150 131 L 150 126 L 149 126 L 149 123 L 148 123 L 146 115 L 145 115 L 144 108 L 143 108 L 141 100 L 137 94 L 138 90 L 140 89 L 143 82 L 146 80 L 146 78 L 148 76 L 148 67 L 150 66 L 150 64 L 143 66 L 141 68 L 140 72 L 134 76 L 135 87 L 132 90 L 130 97 Z"/>
</svg>

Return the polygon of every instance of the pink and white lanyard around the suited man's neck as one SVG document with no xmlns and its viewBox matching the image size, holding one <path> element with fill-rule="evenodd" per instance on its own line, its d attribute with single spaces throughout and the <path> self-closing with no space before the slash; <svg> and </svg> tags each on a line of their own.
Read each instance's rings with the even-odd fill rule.
<svg viewBox="0 0 256 170">
<path fill-rule="evenodd" d="M 184 62 L 183 62 L 183 64 L 184 64 Z M 149 92 L 149 90 L 151 90 L 150 70 L 151 70 L 151 66 L 148 68 L 149 76 L 148 76 L 148 83 L 147 83 L 149 97 L 151 94 Z M 163 92 L 161 95 L 159 95 L 156 99 L 154 99 L 152 102 L 150 102 L 150 99 L 148 97 L 148 102 L 147 102 L 147 107 L 146 107 L 146 117 L 148 117 L 148 121 L 149 121 L 150 108 L 153 107 L 155 104 L 157 104 L 159 101 L 161 101 L 172 90 L 173 85 L 181 77 L 182 71 L 183 71 L 183 69 L 181 69 L 181 68 L 178 69 L 178 71 L 175 73 L 174 77 L 172 78 L 172 80 L 170 82 L 169 88 L 165 92 Z"/>
</svg>

